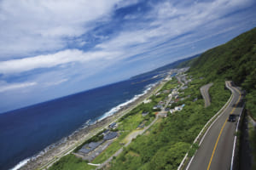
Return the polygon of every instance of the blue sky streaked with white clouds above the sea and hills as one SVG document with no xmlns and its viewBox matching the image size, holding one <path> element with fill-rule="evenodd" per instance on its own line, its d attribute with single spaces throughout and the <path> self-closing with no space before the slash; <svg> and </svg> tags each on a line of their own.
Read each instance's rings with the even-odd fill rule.
<svg viewBox="0 0 256 170">
<path fill-rule="evenodd" d="M 255 26 L 254 0 L 1 0 L 0 113 L 125 80 Z"/>
</svg>

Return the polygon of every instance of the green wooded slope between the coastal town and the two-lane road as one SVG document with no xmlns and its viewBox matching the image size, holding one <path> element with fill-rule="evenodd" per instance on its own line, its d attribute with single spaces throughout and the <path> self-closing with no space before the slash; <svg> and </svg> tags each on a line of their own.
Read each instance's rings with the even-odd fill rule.
<svg viewBox="0 0 256 170">
<path fill-rule="evenodd" d="M 230 96 L 230 91 L 224 89 L 224 82 L 216 81 L 210 90 L 212 105 L 204 108 L 203 99 L 191 101 L 198 97 L 203 84 L 204 80 L 191 82 L 184 90 L 183 95 L 191 97 L 183 100 L 183 111 L 155 124 L 146 135 L 139 135 L 113 160 L 110 169 L 177 169 L 201 128 Z M 195 150 L 196 145 L 190 153 Z"/>
</svg>

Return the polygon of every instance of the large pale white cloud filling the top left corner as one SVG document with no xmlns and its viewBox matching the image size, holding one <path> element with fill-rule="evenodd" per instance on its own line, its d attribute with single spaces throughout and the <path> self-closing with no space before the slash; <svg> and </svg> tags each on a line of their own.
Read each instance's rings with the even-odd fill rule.
<svg viewBox="0 0 256 170">
<path fill-rule="evenodd" d="M 0 1 L 0 57 L 65 48 L 66 37 L 79 37 L 119 0 Z"/>
</svg>

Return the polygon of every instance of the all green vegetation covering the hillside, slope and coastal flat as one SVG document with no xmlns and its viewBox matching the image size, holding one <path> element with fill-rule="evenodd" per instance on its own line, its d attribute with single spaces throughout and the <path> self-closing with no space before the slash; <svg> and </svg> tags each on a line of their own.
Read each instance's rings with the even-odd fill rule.
<svg viewBox="0 0 256 170">
<path fill-rule="evenodd" d="M 206 122 L 229 99 L 230 91 L 224 88 L 225 79 L 232 80 L 247 90 L 247 111 L 255 119 L 256 28 L 180 65 L 191 66 L 189 76 L 193 76 L 189 88 L 183 90 L 183 94 L 180 95 L 184 100 L 172 105 L 174 107 L 185 104 L 183 111 L 158 120 L 148 129 L 148 132 L 144 135 L 138 135 L 137 139 L 134 139 L 128 147 L 124 148 L 119 156 L 114 157 L 110 169 L 177 169 L 187 151 L 189 151 L 189 156 L 194 155 L 198 148 L 198 144 L 193 144 L 195 137 Z M 208 82 L 213 82 L 213 86 L 209 90 L 212 104 L 205 108 L 199 88 Z M 141 122 L 146 121 L 146 124 L 152 122 L 154 119 L 152 108 L 166 99 L 168 93 L 164 93 L 165 90 L 170 90 L 176 86 L 176 80 L 167 82 L 160 90 L 159 95 L 153 95 L 150 98 L 152 102 L 138 105 L 119 119 L 119 138 L 110 144 L 93 162 L 102 163 L 102 161 L 107 160 L 115 151 L 123 147 L 127 135 L 133 132 Z M 197 100 L 193 102 L 193 99 Z M 143 117 L 143 111 L 147 111 L 149 114 Z M 250 135 L 250 141 L 255 145 L 255 131 L 250 129 Z M 86 142 L 101 138 L 97 134 L 95 139 Z M 192 148 L 190 148 L 191 144 L 193 144 Z M 253 150 L 255 152 L 255 147 Z M 90 168 L 86 161 L 81 161 L 73 155 L 62 157 L 53 167 L 50 167 L 50 169 Z"/>
</svg>

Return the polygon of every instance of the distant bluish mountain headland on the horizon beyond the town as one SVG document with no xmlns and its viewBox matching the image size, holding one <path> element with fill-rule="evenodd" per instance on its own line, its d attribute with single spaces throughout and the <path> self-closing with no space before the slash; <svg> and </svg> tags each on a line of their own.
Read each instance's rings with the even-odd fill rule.
<svg viewBox="0 0 256 170">
<path fill-rule="evenodd" d="M 193 64 L 193 59 L 196 59 L 199 56 L 200 56 L 200 54 L 196 54 L 196 55 L 193 55 L 193 56 L 191 56 L 189 58 L 186 58 L 186 59 L 179 59 L 179 60 L 177 60 L 177 61 L 175 61 L 171 64 L 161 66 L 161 67 L 155 69 L 154 71 L 148 71 L 148 72 L 145 72 L 143 74 L 137 75 L 135 77 L 131 77 L 131 79 L 134 79 L 134 78 L 137 78 L 137 77 L 147 77 L 148 75 L 152 75 L 154 73 L 159 74 L 159 73 L 169 71 L 169 70 L 175 69 L 175 68 L 187 67 L 189 65 L 192 65 Z"/>
</svg>

